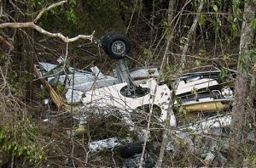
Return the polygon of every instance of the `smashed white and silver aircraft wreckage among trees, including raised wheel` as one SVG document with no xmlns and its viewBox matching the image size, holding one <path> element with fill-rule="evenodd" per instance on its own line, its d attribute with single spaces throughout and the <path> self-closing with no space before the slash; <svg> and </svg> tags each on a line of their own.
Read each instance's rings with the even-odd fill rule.
<svg viewBox="0 0 256 168">
<path fill-rule="evenodd" d="M 55 64 L 40 63 L 39 66 L 44 70 L 44 76 L 48 76 L 49 83 L 53 84 L 57 80 L 66 85 L 68 103 L 79 103 L 82 101 L 84 109 L 93 107 L 108 108 L 106 112 L 103 112 L 105 115 L 112 115 L 111 109 L 119 109 L 119 113 L 123 116 L 125 123 L 129 125 L 131 131 L 137 127 L 131 116 L 135 110 L 143 109 L 145 106 L 148 106 L 149 109 L 156 106 L 160 109 L 160 115 L 153 113 L 154 116 L 152 117 L 157 118 L 159 123 L 163 125 L 167 117 L 169 98 L 172 91 L 165 83 L 156 79 L 160 76 L 160 71 L 157 68 L 128 70 L 124 55 L 129 52 L 130 46 L 127 46 L 129 43 L 126 42 L 125 37 L 121 36 L 122 38 L 120 38 L 120 36 L 119 34 L 110 33 L 102 40 L 102 46 L 106 53 L 113 59 L 119 59 L 119 66 L 113 70 L 115 76 L 104 76 L 97 67 L 92 67 L 90 69 L 91 72 L 69 68 L 70 74 L 59 75 L 56 79 L 56 76 L 48 76 L 47 73 L 56 68 Z M 229 109 L 233 100 L 233 91 L 230 87 L 220 85 L 219 73 L 220 70 L 183 74 L 178 82 L 176 91 L 176 95 L 181 102 L 175 101 L 174 106 L 175 104 L 180 104 L 189 113 L 220 112 Z M 232 76 L 235 74 L 234 72 L 230 73 Z M 86 114 L 82 114 L 76 117 L 76 119 L 79 120 L 80 126 L 89 121 L 86 118 Z M 184 126 L 177 126 L 176 115 L 172 113 L 170 125 L 176 127 L 177 131 L 172 132 L 171 135 L 182 139 L 191 152 L 202 154 L 205 161 L 211 162 L 217 157 L 214 151 L 216 151 L 216 148 L 220 148 L 220 146 L 217 143 L 212 143 L 211 148 L 207 148 L 207 151 L 204 149 L 201 151 L 200 148 L 195 147 L 191 132 L 196 135 L 209 133 L 212 130 L 221 133 L 219 129 L 229 127 L 230 120 L 230 115 L 219 115 L 217 113 L 217 115 L 204 120 Z M 139 129 L 141 134 L 139 140 L 142 142 L 145 141 L 145 132 L 145 129 Z M 124 142 L 131 143 L 133 141 L 131 137 L 127 138 L 128 140 L 126 139 Z M 124 142 L 117 137 L 109 137 L 108 139 L 91 142 L 89 148 L 93 152 L 121 146 Z M 174 146 L 173 142 L 170 142 L 166 150 L 172 151 L 175 148 Z M 134 153 L 131 152 L 132 154 L 129 157 L 140 152 L 141 150 L 137 150 Z M 224 157 L 222 161 L 224 162 Z"/>
</svg>

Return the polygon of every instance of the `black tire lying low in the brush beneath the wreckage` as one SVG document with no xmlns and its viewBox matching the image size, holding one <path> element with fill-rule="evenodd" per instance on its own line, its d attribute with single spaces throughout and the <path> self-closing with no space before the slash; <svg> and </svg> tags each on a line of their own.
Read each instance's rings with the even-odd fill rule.
<svg viewBox="0 0 256 168">
<path fill-rule="evenodd" d="M 131 158 L 134 154 L 141 154 L 143 152 L 143 143 L 144 142 L 129 143 L 120 148 L 121 157 Z"/>
</svg>

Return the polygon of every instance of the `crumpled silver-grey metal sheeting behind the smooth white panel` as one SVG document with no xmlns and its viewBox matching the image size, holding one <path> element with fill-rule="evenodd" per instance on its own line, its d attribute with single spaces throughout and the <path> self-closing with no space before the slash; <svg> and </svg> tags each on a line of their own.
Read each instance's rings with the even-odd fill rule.
<svg viewBox="0 0 256 168">
<path fill-rule="evenodd" d="M 63 64 L 56 65 L 40 62 L 38 67 L 52 86 L 56 86 L 57 82 L 60 82 L 61 85 L 66 87 L 67 103 L 81 103 L 84 92 L 124 82 L 123 74 L 119 73 L 120 67 L 113 70 L 114 77 L 104 76 L 96 66 L 91 67 L 91 71 L 77 70 L 69 67 L 65 70 L 65 73 L 63 73 Z M 130 70 L 129 73 L 129 76 L 134 81 L 160 75 L 160 71 L 157 68 L 137 68 Z"/>
</svg>

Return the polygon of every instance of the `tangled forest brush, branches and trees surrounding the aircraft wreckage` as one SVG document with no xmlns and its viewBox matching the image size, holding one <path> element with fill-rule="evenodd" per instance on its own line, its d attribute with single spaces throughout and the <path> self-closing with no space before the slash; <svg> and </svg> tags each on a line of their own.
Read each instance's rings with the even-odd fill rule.
<svg viewBox="0 0 256 168">
<path fill-rule="evenodd" d="M 64 56 L 67 65 L 79 69 L 97 65 L 112 75 L 117 61 L 109 59 L 96 41 L 109 31 L 122 32 L 131 40 L 129 67 L 158 66 L 161 80 L 169 87 L 182 73 L 212 67 L 218 67 L 220 78 L 235 87 L 233 107 L 237 108 L 226 111 L 233 117 L 231 134 L 222 135 L 230 146 L 221 152 L 216 149 L 227 160 L 218 157 L 206 163 L 172 135 L 177 150 L 164 154 L 163 165 L 255 165 L 255 6 L 255 0 L 0 1 L 0 166 L 122 166 L 120 148 L 94 153 L 88 145 L 109 137 L 139 139 L 137 132 L 148 123 L 146 110 L 132 114 L 138 130 L 131 131 L 118 109 L 106 116 L 105 109 L 88 112 L 75 105 L 65 106 L 68 110 L 47 106 L 43 100 L 49 93 L 40 89 L 33 71 L 39 61 L 56 63 Z M 84 37 L 68 41 L 78 35 Z M 226 78 L 231 69 L 236 70 L 236 79 Z M 63 97 L 65 87 L 58 85 L 55 90 Z M 81 110 L 87 111 L 89 122 L 77 129 L 74 116 Z M 180 124 L 206 116 L 187 114 L 179 105 L 174 110 Z M 153 120 L 150 127 L 147 151 L 156 159 L 164 124 Z M 247 138 L 250 132 L 253 138 Z M 210 142 L 207 147 L 211 147 L 207 136 L 195 135 L 196 145 Z"/>
</svg>

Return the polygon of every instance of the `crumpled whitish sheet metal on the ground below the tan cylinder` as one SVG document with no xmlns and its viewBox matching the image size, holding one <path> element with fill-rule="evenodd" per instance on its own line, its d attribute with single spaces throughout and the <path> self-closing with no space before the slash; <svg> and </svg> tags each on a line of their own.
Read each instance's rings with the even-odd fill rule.
<svg viewBox="0 0 256 168">
<path fill-rule="evenodd" d="M 186 126 L 178 126 L 178 131 L 172 132 L 172 135 L 180 138 L 186 144 L 189 152 L 202 154 L 201 156 L 205 158 L 206 162 L 211 162 L 217 156 L 217 151 L 224 148 L 226 142 L 225 139 L 219 139 L 216 143 L 216 139 L 209 138 L 207 140 L 204 135 L 209 137 L 212 133 L 220 134 L 222 128 L 230 126 L 230 122 L 231 115 L 217 115 Z M 211 144 L 207 144 L 207 142 Z"/>
</svg>

